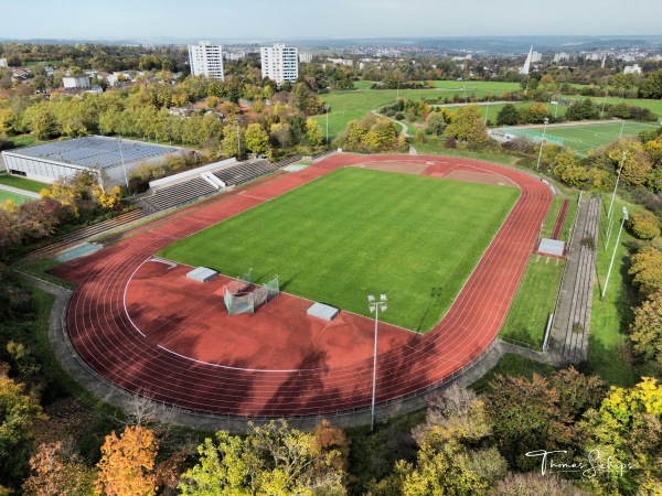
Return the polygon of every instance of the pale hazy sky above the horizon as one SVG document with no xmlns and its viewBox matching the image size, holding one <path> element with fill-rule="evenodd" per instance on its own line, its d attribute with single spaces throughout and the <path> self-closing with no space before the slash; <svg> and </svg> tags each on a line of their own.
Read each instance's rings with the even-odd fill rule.
<svg viewBox="0 0 662 496">
<path fill-rule="evenodd" d="M 660 0 L 0 0 L 0 37 L 662 34 Z"/>
</svg>

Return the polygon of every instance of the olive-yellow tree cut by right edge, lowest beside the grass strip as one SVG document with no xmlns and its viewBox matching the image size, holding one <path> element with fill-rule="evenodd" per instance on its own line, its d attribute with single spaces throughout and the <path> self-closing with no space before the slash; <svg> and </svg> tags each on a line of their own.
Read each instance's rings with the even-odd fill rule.
<svg viewBox="0 0 662 496">
<path fill-rule="evenodd" d="M 662 288 L 634 309 L 630 341 L 638 357 L 662 365 Z"/>
</svg>

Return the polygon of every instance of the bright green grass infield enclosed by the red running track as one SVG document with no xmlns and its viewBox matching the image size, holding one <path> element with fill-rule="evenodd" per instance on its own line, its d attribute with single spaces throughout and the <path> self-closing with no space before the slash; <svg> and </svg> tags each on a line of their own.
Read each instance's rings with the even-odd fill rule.
<svg viewBox="0 0 662 496">
<path fill-rule="evenodd" d="M 446 313 L 519 190 L 346 168 L 216 224 L 159 256 L 428 331 Z M 381 315 L 382 319 L 382 315 Z"/>
</svg>

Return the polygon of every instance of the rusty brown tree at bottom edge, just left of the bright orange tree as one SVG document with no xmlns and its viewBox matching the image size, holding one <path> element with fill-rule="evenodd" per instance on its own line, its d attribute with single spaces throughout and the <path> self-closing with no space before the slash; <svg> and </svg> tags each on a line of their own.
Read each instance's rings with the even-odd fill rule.
<svg viewBox="0 0 662 496">
<path fill-rule="evenodd" d="M 29 496 L 93 495 L 94 472 L 62 441 L 39 446 L 30 459 L 30 477 L 23 484 Z"/>
</svg>

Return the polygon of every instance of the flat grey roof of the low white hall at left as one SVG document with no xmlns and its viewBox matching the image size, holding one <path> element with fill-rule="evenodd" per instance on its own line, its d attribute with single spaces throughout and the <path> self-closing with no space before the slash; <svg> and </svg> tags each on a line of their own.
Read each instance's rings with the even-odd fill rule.
<svg viewBox="0 0 662 496">
<path fill-rule="evenodd" d="M 121 140 L 121 154 L 127 164 L 173 153 L 178 150 L 174 147 L 149 144 L 126 139 Z M 15 151 L 12 150 L 11 153 L 100 170 L 121 165 L 119 151 L 120 142 L 116 138 L 86 136 L 73 140 L 54 141 Z"/>
</svg>

